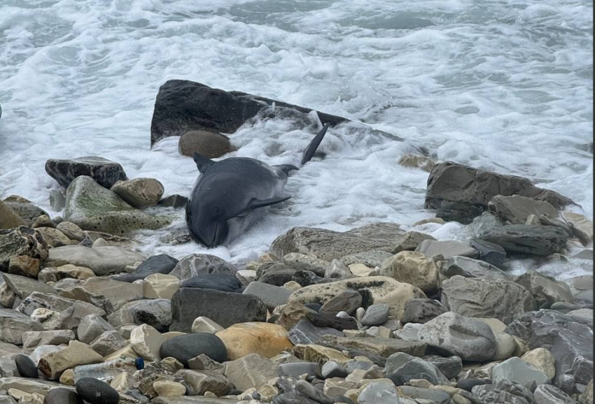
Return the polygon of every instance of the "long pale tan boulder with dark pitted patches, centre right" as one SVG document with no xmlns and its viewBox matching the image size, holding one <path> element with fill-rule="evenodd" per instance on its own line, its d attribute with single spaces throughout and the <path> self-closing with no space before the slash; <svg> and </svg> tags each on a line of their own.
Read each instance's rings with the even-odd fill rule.
<svg viewBox="0 0 595 404">
<path fill-rule="evenodd" d="M 402 318 L 407 301 L 412 298 L 426 297 L 421 289 L 411 284 L 398 282 L 391 277 L 373 276 L 314 284 L 293 292 L 289 301 L 324 304 L 349 289 L 358 291 L 362 295 L 363 308 L 368 308 L 372 304 L 388 304 L 390 308 L 388 316 L 395 319 Z"/>
</svg>

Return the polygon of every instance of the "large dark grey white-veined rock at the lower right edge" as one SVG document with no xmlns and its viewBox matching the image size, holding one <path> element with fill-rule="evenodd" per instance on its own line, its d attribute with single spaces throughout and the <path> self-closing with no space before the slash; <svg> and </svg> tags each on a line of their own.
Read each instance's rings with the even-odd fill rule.
<svg viewBox="0 0 595 404">
<path fill-rule="evenodd" d="M 505 332 L 525 340 L 530 349 L 545 348 L 552 352 L 556 359 L 555 384 L 558 387 L 564 373 L 573 375 L 577 358 L 582 356 L 593 361 L 591 326 L 556 310 L 527 312 L 509 324 Z M 578 368 L 575 366 L 574 370 Z"/>
</svg>

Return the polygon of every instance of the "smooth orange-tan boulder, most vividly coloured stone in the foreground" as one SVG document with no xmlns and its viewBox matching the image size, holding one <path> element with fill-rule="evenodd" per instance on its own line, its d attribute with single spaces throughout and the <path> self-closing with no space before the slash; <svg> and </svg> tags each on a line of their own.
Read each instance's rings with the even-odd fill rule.
<svg viewBox="0 0 595 404">
<path fill-rule="evenodd" d="M 219 331 L 216 336 L 221 338 L 228 349 L 230 361 L 249 354 L 272 358 L 284 350 L 293 348 L 287 330 L 276 324 L 262 322 L 234 324 L 228 329 Z"/>
</svg>

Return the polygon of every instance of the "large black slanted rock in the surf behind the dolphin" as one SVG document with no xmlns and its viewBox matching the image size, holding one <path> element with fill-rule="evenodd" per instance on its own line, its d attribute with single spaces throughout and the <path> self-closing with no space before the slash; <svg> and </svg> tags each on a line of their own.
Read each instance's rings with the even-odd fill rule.
<svg viewBox="0 0 595 404">
<path fill-rule="evenodd" d="M 273 103 L 274 110 L 267 108 Z M 312 111 L 243 92 L 226 92 L 200 82 L 168 80 L 159 88 L 155 99 L 151 120 L 151 147 L 162 138 L 182 136 L 192 130 L 232 134 L 263 108 L 267 108 L 267 116 L 291 114 L 306 122 L 309 122 L 307 114 Z M 335 115 L 318 112 L 318 116 L 322 122 L 348 122 Z"/>
</svg>

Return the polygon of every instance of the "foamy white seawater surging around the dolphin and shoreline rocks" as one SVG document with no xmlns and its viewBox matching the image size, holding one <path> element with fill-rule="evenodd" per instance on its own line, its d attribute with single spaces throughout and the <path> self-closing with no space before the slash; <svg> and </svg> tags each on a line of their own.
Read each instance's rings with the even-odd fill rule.
<svg viewBox="0 0 595 404">
<path fill-rule="evenodd" d="M 198 173 L 178 138 L 150 150 L 160 85 L 187 79 L 405 138 L 331 130 L 325 158 L 290 178 L 290 203 L 230 247 L 208 250 L 236 264 L 292 226 L 409 229 L 431 217 L 428 173 L 398 165 L 413 147 L 530 178 L 593 219 L 592 13 L 587 0 L 0 0 L 0 197 L 19 194 L 60 215 L 45 161 L 85 155 L 187 196 Z M 297 164 L 313 135 L 257 120 L 230 134 L 237 151 L 228 157 Z M 207 252 L 162 243 L 183 226 L 179 211 L 172 226 L 135 238 L 148 253 Z M 457 224 L 423 230 L 464 233 Z M 573 260 L 548 268 L 585 273 Z"/>
</svg>

